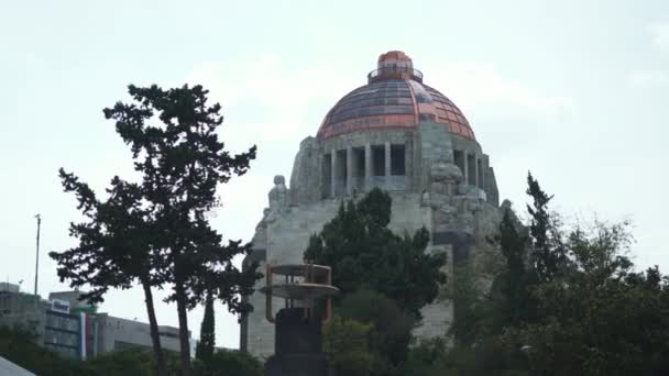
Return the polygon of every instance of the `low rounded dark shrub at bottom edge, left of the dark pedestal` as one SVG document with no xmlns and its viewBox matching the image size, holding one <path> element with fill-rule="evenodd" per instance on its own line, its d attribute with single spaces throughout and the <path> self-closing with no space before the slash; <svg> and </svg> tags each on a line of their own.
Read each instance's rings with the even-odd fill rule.
<svg viewBox="0 0 669 376">
<path fill-rule="evenodd" d="M 206 362 L 195 363 L 196 376 L 264 376 L 263 364 L 241 351 L 218 351 Z"/>
</svg>

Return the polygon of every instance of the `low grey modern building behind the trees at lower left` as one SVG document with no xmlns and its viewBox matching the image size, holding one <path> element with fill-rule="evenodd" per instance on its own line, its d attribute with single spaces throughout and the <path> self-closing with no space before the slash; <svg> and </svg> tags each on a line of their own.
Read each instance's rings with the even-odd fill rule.
<svg viewBox="0 0 669 376">
<path fill-rule="evenodd" d="M 80 291 L 52 292 L 48 300 L 0 290 L 0 325 L 33 329 L 37 343 L 75 358 L 128 349 L 152 349 L 147 323 L 97 312 L 79 301 Z M 179 352 L 178 328 L 158 327 L 164 350 Z"/>
</svg>

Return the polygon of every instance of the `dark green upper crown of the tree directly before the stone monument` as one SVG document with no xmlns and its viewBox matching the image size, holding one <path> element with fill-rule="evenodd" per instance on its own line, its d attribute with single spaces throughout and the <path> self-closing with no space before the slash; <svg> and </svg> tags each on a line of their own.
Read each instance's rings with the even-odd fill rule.
<svg viewBox="0 0 669 376">
<path fill-rule="evenodd" d="M 446 281 L 445 255 L 429 255 L 429 233 L 394 234 L 387 224 L 391 197 L 373 189 L 360 202 L 342 203 L 338 214 L 309 240 L 305 259 L 330 265 L 333 284 L 346 296 L 368 288 L 393 299 L 402 310 L 419 317 Z"/>
</svg>

